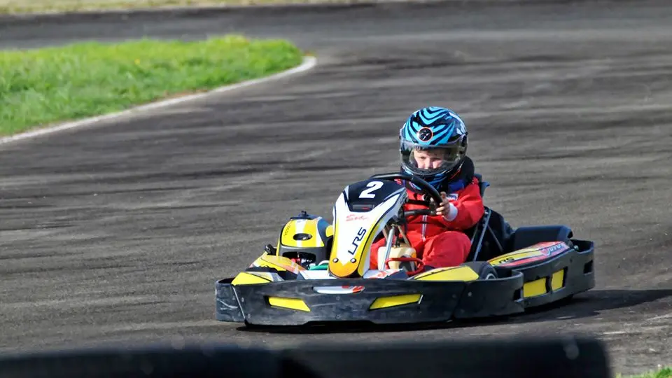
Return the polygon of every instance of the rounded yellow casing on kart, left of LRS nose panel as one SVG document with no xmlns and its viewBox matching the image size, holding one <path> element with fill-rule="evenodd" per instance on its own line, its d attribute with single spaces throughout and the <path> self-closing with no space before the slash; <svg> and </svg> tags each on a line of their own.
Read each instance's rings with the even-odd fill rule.
<svg viewBox="0 0 672 378">
<path fill-rule="evenodd" d="M 302 211 L 289 218 L 278 237 L 276 255 L 309 267 L 328 260 L 331 252 L 333 226 L 321 216 Z"/>
</svg>

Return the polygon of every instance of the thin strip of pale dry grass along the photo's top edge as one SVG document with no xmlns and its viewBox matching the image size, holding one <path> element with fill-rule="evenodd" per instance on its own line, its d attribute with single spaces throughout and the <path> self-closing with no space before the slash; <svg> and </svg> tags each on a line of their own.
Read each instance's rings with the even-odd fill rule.
<svg viewBox="0 0 672 378">
<path fill-rule="evenodd" d="M 57 13 L 179 6 L 250 6 L 288 3 L 350 3 L 358 0 L 0 0 L 0 13 Z"/>
</svg>

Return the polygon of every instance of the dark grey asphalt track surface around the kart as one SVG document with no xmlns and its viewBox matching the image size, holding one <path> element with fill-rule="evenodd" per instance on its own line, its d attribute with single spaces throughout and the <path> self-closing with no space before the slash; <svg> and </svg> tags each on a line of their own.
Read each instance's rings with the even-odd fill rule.
<svg viewBox="0 0 672 378">
<path fill-rule="evenodd" d="M 1 45 L 225 32 L 292 38 L 307 73 L 0 146 L 0 347 L 597 335 L 613 368 L 672 363 L 672 8 L 664 1 L 6 22 Z M 596 241 L 566 306 L 440 330 L 288 334 L 214 320 L 214 280 L 289 216 L 398 166 L 402 120 L 461 113 L 486 204 Z"/>
</svg>

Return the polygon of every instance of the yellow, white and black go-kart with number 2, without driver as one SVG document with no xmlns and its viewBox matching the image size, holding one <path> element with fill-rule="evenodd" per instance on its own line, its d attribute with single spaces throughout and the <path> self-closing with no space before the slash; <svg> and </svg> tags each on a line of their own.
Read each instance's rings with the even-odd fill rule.
<svg viewBox="0 0 672 378">
<path fill-rule="evenodd" d="M 475 174 L 484 195 L 489 183 Z M 404 211 L 406 186 L 426 208 Z M 412 216 L 434 215 L 440 193 L 400 173 L 346 186 L 333 224 L 307 214 L 289 219 L 277 245 L 247 269 L 216 281 L 216 319 L 246 325 L 344 321 L 434 323 L 519 314 L 594 287 L 594 242 L 566 225 L 513 229 L 496 211 L 467 233 L 472 248 L 457 267 L 425 267 L 404 232 Z M 379 237 L 385 246 L 370 251 Z M 378 266 L 370 266 L 377 253 Z"/>
</svg>

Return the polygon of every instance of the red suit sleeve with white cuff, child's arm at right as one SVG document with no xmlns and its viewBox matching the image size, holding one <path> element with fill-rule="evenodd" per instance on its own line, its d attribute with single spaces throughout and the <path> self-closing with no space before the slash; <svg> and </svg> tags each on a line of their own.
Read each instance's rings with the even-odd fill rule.
<svg viewBox="0 0 672 378">
<path fill-rule="evenodd" d="M 440 222 L 451 230 L 467 230 L 472 228 L 484 214 L 483 197 L 478 186 L 478 180 L 473 179 L 472 183 L 466 186 L 458 193 L 447 193 L 450 200 L 450 207 L 443 216 L 436 216 Z M 451 197 L 457 196 L 456 199 Z"/>
</svg>

